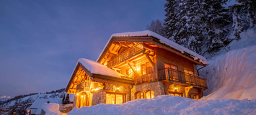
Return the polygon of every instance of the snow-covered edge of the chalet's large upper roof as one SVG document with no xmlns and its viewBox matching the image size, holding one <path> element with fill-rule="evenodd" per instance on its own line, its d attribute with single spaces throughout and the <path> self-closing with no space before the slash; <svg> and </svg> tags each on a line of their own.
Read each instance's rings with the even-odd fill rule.
<svg viewBox="0 0 256 115">
<path fill-rule="evenodd" d="M 152 36 L 152 37 L 156 37 L 157 39 L 160 40 L 160 42 L 162 44 L 165 45 L 169 45 L 169 47 L 173 47 L 176 50 L 179 50 L 180 52 L 184 53 L 187 52 L 188 54 L 192 55 L 194 57 L 194 60 L 199 60 L 200 63 L 203 63 L 205 65 L 207 65 L 207 60 L 205 57 L 198 55 L 198 53 L 193 52 L 192 50 L 187 49 L 186 47 L 183 47 L 181 45 L 178 45 L 175 42 L 172 42 L 171 40 L 168 40 L 165 37 L 162 37 L 161 35 L 156 34 L 155 32 L 151 32 L 149 30 L 145 30 L 145 31 L 139 31 L 139 32 L 123 32 L 123 33 L 115 33 L 113 35 L 111 35 L 110 39 L 107 41 L 107 44 L 105 45 L 104 49 L 102 50 L 102 52 L 104 52 L 105 48 L 107 47 L 107 45 L 109 44 L 110 40 L 112 37 L 140 37 L 140 36 Z M 100 59 L 100 56 L 102 55 L 102 52 L 100 53 L 99 57 L 97 60 Z"/>
</svg>

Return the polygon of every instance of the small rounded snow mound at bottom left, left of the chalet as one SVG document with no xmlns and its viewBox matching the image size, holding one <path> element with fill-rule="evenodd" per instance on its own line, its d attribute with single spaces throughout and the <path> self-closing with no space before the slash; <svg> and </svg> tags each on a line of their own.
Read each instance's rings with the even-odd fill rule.
<svg viewBox="0 0 256 115">
<path fill-rule="evenodd" d="M 45 111 L 45 115 L 62 115 L 61 112 L 58 111 L 58 103 L 44 103 L 41 108 Z"/>
</svg>

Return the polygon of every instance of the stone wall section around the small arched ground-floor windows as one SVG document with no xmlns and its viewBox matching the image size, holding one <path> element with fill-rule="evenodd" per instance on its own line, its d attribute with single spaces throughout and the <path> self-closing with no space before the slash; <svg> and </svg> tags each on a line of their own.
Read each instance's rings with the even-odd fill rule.
<svg viewBox="0 0 256 115">
<path fill-rule="evenodd" d="M 164 85 L 161 81 L 154 81 L 150 83 L 142 83 L 138 85 L 134 85 L 131 89 L 131 100 L 136 99 L 136 92 L 141 91 L 142 93 L 146 93 L 146 91 L 154 91 L 154 96 L 164 95 Z"/>
</svg>

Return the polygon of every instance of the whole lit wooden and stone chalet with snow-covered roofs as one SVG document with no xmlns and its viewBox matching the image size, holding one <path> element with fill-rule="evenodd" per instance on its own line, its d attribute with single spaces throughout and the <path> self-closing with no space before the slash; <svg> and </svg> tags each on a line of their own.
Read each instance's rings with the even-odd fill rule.
<svg viewBox="0 0 256 115">
<path fill-rule="evenodd" d="M 97 62 L 79 59 L 66 87 L 74 105 L 119 104 L 160 95 L 198 99 L 206 58 L 151 31 L 113 34 Z"/>
</svg>

